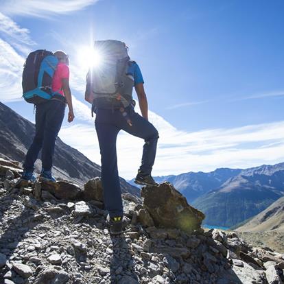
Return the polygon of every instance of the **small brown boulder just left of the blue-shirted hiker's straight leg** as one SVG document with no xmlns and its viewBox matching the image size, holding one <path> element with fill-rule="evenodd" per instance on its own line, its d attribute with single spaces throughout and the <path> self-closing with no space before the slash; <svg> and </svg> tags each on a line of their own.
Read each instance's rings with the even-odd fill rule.
<svg viewBox="0 0 284 284">
<path fill-rule="evenodd" d="M 83 199 L 104 202 L 104 190 L 100 178 L 92 178 L 84 184 Z"/>
</svg>

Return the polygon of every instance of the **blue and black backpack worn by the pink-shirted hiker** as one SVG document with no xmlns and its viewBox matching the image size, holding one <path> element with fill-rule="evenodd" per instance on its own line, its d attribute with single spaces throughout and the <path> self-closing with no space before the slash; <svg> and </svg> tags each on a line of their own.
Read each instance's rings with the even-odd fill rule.
<svg viewBox="0 0 284 284">
<path fill-rule="evenodd" d="M 23 69 L 23 98 L 31 104 L 43 104 L 57 92 L 51 89 L 58 58 L 51 51 L 39 49 L 27 56 Z"/>
</svg>

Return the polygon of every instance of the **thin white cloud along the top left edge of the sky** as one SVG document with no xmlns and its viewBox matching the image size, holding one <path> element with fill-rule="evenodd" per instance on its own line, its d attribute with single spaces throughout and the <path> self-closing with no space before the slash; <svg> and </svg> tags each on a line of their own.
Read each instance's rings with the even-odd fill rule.
<svg viewBox="0 0 284 284">
<path fill-rule="evenodd" d="M 54 14 L 67 14 L 82 10 L 98 0 L 2 0 L 1 11 L 9 15 L 51 17 Z"/>
</svg>

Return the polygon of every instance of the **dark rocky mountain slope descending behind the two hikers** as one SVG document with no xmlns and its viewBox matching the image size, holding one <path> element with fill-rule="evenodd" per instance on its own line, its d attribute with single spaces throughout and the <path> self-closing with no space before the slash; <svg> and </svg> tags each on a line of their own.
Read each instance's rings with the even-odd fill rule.
<svg viewBox="0 0 284 284">
<path fill-rule="evenodd" d="M 21 117 L 0 102 L 0 157 L 23 161 L 34 137 L 34 123 Z M 40 157 L 40 155 L 39 155 Z M 41 161 L 38 159 L 35 170 L 40 172 Z M 53 172 L 56 177 L 71 180 L 83 185 L 87 180 L 101 175 L 101 167 L 90 161 L 81 152 L 56 139 Z M 121 191 L 139 196 L 139 189 L 120 178 Z"/>
</svg>

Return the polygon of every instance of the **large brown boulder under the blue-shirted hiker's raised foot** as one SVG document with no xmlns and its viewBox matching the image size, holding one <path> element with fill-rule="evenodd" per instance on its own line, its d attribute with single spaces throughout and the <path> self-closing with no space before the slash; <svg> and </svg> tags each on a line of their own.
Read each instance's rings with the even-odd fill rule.
<svg viewBox="0 0 284 284">
<path fill-rule="evenodd" d="M 143 187 L 143 207 L 149 211 L 155 226 L 180 228 L 187 233 L 200 228 L 205 215 L 187 203 L 187 200 L 169 182 Z"/>
</svg>

